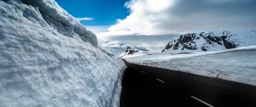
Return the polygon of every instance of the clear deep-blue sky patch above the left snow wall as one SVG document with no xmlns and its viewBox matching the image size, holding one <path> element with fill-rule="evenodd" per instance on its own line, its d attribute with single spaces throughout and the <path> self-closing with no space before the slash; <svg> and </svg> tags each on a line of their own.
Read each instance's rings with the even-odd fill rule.
<svg viewBox="0 0 256 107">
<path fill-rule="evenodd" d="M 94 20 L 83 20 L 83 25 L 115 24 L 117 19 L 125 19 L 129 14 L 124 4 L 126 0 L 55 0 L 69 14 L 76 18 L 90 17 Z"/>
</svg>

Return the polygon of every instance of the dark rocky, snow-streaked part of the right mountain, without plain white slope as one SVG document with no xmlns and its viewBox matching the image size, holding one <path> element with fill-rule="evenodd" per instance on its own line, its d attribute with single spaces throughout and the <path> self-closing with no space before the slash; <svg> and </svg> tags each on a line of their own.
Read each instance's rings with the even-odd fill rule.
<svg viewBox="0 0 256 107">
<path fill-rule="evenodd" d="M 162 50 L 172 51 L 208 51 L 209 49 L 220 50 L 236 48 L 236 34 L 231 34 L 230 31 L 223 31 L 222 35 L 216 35 L 213 31 L 189 33 L 181 35 L 178 39 L 174 39 L 166 45 Z"/>
</svg>

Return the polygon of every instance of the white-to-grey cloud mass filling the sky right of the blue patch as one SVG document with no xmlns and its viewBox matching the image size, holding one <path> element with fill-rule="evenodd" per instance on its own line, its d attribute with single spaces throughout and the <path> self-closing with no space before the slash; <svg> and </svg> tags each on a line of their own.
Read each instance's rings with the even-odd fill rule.
<svg viewBox="0 0 256 107">
<path fill-rule="evenodd" d="M 131 0 L 130 13 L 100 36 L 255 29 L 255 0 Z"/>
</svg>

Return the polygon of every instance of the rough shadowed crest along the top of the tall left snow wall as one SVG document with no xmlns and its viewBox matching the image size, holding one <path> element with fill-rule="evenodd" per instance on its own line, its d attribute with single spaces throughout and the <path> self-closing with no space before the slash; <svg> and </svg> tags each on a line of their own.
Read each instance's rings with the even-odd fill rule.
<svg viewBox="0 0 256 107">
<path fill-rule="evenodd" d="M 62 9 L 54 0 L 22 0 L 40 12 L 44 20 L 56 31 L 67 37 L 80 37 L 84 42 L 90 42 L 97 47 L 96 36 L 79 24 L 79 21 Z M 25 15 L 32 17 L 32 13 L 26 11 Z M 37 19 L 34 19 L 37 22 Z"/>
</svg>

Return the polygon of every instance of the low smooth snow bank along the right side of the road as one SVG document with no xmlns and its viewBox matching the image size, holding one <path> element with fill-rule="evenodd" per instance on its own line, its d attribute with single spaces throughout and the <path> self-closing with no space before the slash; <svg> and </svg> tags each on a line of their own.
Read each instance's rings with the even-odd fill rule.
<svg viewBox="0 0 256 107">
<path fill-rule="evenodd" d="M 131 63 L 218 77 L 256 86 L 256 46 L 217 52 L 161 53 L 127 59 Z"/>
</svg>

